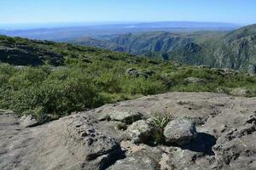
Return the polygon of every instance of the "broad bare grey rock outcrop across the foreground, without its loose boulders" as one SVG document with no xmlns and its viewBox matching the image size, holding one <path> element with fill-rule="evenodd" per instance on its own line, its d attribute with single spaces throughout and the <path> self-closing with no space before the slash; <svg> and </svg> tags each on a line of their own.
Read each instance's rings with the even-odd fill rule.
<svg viewBox="0 0 256 170">
<path fill-rule="evenodd" d="M 255 105 L 256 98 L 169 93 L 104 105 L 30 128 L 21 126 L 19 117 L 2 111 L 0 169 L 97 170 L 145 166 L 144 169 L 157 170 L 254 170 Z M 195 122 L 197 136 L 183 146 L 132 144 L 123 138 L 126 131 L 116 129 L 119 122 L 97 120 L 97 114 L 111 111 L 139 111 L 144 117 L 163 113 L 173 119 L 188 119 Z"/>
</svg>

